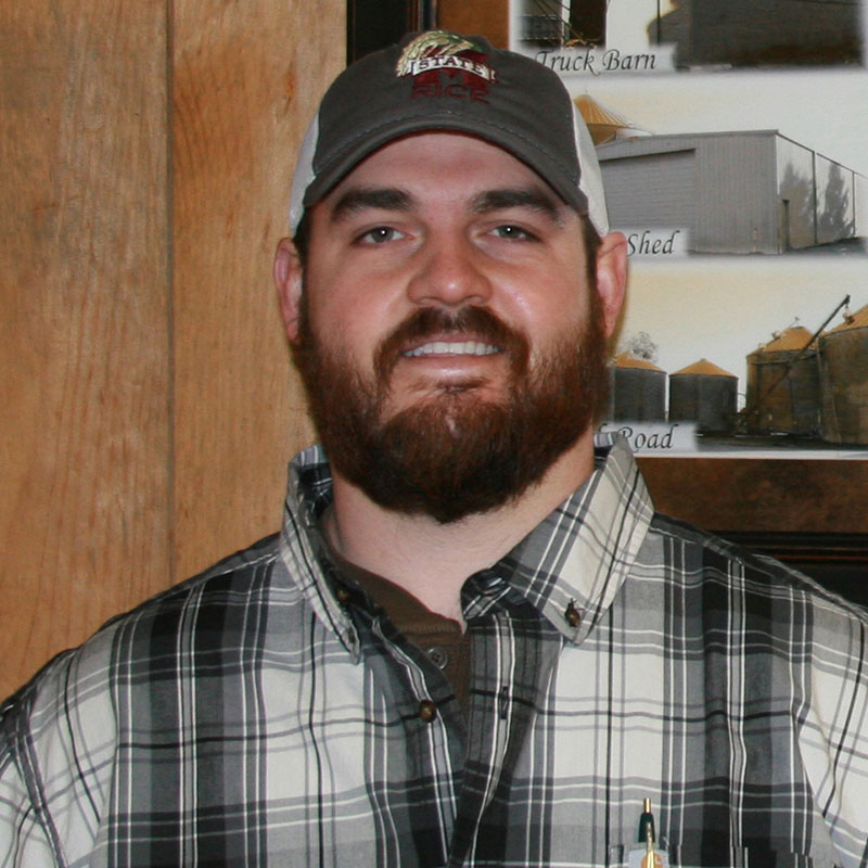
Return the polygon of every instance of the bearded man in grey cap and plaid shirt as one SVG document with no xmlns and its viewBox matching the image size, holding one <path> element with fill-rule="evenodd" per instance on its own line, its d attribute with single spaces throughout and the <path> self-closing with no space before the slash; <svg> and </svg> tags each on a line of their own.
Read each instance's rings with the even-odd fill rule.
<svg viewBox="0 0 868 868">
<path fill-rule="evenodd" d="M 625 241 L 557 77 L 408 37 L 291 200 L 324 451 L 7 703 L 2 864 L 868 864 L 865 614 L 595 448 Z"/>
</svg>

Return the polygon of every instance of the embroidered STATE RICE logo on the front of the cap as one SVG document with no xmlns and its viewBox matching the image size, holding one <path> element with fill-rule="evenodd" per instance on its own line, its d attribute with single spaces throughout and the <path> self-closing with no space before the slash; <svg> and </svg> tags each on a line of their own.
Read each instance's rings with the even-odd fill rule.
<svg viewBox="0 0 868 868">
<path fill-rule="evenodd" d="M 463 97 L 487 102 L 489 85 L 497 81 L 480 47 L 448 30 L 416 37 L 395 65 L 399 78 L 413 76 L 412 98 Z"/>
</svg>

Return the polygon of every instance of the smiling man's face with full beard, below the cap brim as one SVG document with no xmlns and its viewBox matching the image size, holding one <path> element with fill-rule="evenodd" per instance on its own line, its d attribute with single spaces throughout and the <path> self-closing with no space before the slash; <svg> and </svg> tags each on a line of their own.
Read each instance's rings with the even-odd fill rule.
<svg viewBox="0 0 868 868">
<path fill-rule="evenodd" d="M 335 471 L 372 500 L 442 522 L 490 510 L 587 431 L 614 314 L 579 217 L 524 164 L 408 137 L 310 220 L 296 361 Z"/>
</svg>

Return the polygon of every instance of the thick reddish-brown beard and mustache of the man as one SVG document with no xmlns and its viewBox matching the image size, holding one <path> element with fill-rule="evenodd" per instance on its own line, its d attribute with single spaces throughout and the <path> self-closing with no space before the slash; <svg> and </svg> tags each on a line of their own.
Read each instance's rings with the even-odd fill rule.
<svg viewBox="0 0 868 868">
<path fill-rule="evenodd" d="M 487 308 L 423 308 L 380 344 L 368 376 L 315 334 L 304 295 L 293 357 L 314 423 L 335 471 L 385 509 L 446 524 L 515 501 L 605 406 L 607 340 L 592 286 L 587 320 L 534 363 L 529 341 Z M 448 332 L 473 334 L 508 356 L 503 397 L 481 397 L 481 378 L 426 388 L 391 412 L 401 347 Z"/>
</svg>

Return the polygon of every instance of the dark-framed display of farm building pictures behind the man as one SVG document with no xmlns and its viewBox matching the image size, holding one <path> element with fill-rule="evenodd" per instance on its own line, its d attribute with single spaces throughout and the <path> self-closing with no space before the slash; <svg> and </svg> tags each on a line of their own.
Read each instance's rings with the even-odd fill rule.
<svg viewBox="0 0 868 868">
<path fill-rule="evenodd" d="M 868 578 L 861 0 L 510 0 L 630 252 L 605 426 L 655 505 Z"/>
</svg>

